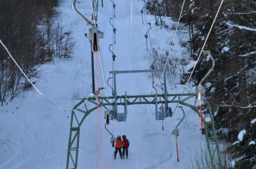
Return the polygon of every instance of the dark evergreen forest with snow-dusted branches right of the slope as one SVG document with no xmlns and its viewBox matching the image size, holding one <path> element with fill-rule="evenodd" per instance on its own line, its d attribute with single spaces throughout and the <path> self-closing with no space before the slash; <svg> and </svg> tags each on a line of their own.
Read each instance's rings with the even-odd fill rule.
<svg viewBox="0 0 256 169">
<path fill-rule="evenodd" d="M 147 0 L 151 14 L 179 19 L 182 0 Z M 181 24 L 187 26 L 186 47 L 197 60 L 221 1 L 185 1 Z M 224 1 L 204 50 L 215 58 L 214 71 L 204 81 L 206 98 L 215 112 L 218 136 L 230 143 L 223 151 L 231 155 L 234 168 L 256 167 L 256 3 L 251 0 Z M 156 8 L 158 7 L 158 8 Z M 157 11 L 159 9 L 159 11 Z M 211 62 L 201 58 L 192 76 L 195 86 L 210 69 Z M 181 83 L 190 75 L 184 74 Z M 242 140 L 240 131 L 245 130 Z M 238 142 L 237 142 L 238 141 Z M 234 144 L 233 144 L 234 143 Z"/>
</svg>

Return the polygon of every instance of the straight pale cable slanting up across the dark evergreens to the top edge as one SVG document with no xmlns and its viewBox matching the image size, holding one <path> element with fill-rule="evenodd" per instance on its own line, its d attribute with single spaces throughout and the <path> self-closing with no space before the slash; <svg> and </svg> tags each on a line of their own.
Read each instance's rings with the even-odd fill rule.
<svg viewBox="0 0 256 169">
<path fill-rule="evenodd" d="M 196 69 L 197 63 L 198 63 L 198 61 L 199 61 L 199 59 L 200 59 L 200 57 L 201 57 L 201 54 L 202 54 L 202 52 L 203 52 L 203 50 L 204 50 L 204 46 L 205 46 L 205 44 L 206 44 L 206 42 L 207 42 L 207 40 L 208 40 L 208 38 L 209 38 L 209 35 L 210 35 L 210 33 L 211 33 L 211 30 L 212 30 L 212 27 L 214 27 L 214 23 L 215 23 L 215 21 L 216 21 L 216 18 L 217 18 L 217 16 L 218 16 L 219 12 L 220 12 L 220 9 L 221 9 L 221 6 L 222 6 L 223 2 L 224 2 L 224 0 L 221 1 L 220 7 L 219 7 L 219 9 L 218 9 L 218 11 L 217 11 L 217 13 L 216 13 L 216 16 L 215 16 L 215 18 L 214 18 L 214 21 L 213 21 L 212 24 L 211 24 L 209 33 L 208 33 L 208 35 L 207 35 L 207 37 L 206 37 L 206 39 L 205 39 L 205 41 L 204 41 L 204 45 L 203 45 L 203 47 L 202 47 L 202 49 L 201 49 L 201 51 L 200 51 L 199 57 L 198 57 L 198 59 L 197 59 L 197 62 L 196 62 L 195 66 L 194 66 L 194 68 L 193 68 L 193 70 L 192 70 L 192 72 L 191 72 L 191 74 L 190 74 L 190 76 L 189 76 L 189 78 L 188 78 L 188 80 L 187 80 L 186 86 L 185 86 L 185 88 L 184 88 L 184 90 L 183 90 L 183 92 L 182 92 L 181 97 L 183 96 L 183 94 L 184 94 L 184 92 L 185 92 L 185 90 L 186 90 L 186 88 L 187 88 L 188 82 L 189 82 L 191 76 L 193 75 L 193 73 L 194 73 L 194 71 L 195 71 L 195 69 Z M 180 101 L 177 103 L 177 105 L 176 105 L 176 107 L 175 107 L 175 109 L 174 109 L 174 112 L 175 112 L 175 110 L 176 110 L 176 108 L 177 108 L 177 106 L 178 106 L 179 103 L 180 103 Z M 174 112 L 173 112 L 173 114 L 174 114 Z"/>
</svg>

